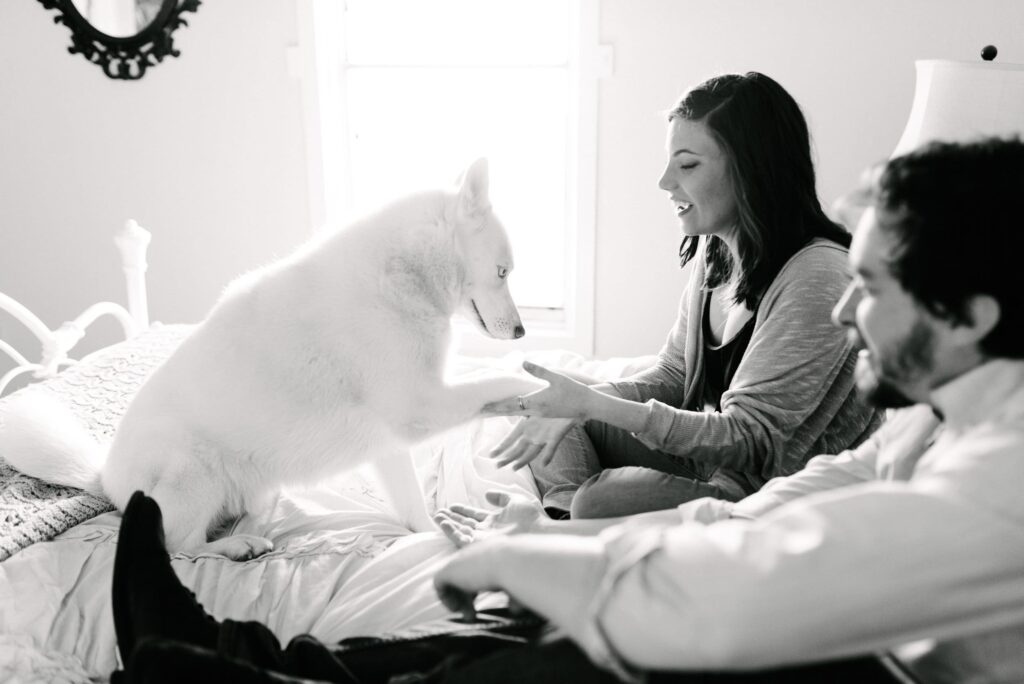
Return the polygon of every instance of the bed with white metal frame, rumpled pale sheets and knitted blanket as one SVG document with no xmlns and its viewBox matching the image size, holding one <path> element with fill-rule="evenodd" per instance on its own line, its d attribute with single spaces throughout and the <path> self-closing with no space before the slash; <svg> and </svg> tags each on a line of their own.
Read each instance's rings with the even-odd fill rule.
<svg viewBox="0 0 1024 684">
<path fill-rule="evenodd" d="M 98 441 L 109 441 L 135 390 L 187 336 L 188 325 L 151 324 L 145 297 L 150 233 L 129 221 L 116 238 L 127 280 L 127 307 L 102 302 L 56 328 L 0 293 L 0 309 L 38 339 L 33 359 L 0 341 L 14 366 L 0 367 L 0 404 L 12 391 L 51 392 Z M 74 349 L 99 317 L 117 318 L 125 340 L 76 358 Z M 0 354 L 2 357 L 4 354 Z M 554 368 L 613 378 L 649 362 L 587 360 L 567 352 L 531 353 Z M 518 368 L 523 354 L 457 356 L 452 372 Z M 18 383 L 26 387 L 12 390 Z M 5 394 L 6 392 L 6 394 Z M 537 497 L 528 469 L 498 469 L 485 454 L 511 419 L 478 420 L 413 450 L 428 507 L 485 507 L 487 489 Z M 0 681 L 105 681 L 118 654 L 110 582 L 120 515 L 109 502 L 18 473 L 0 443 Z M 309 633 L 332 641 L 403 629 L 446 613 L 431 576 L 451 553 L 439 531 L 411 532 L 384 503 L 370 469 L 315 489 L 284 490 L 238 531 L 269 538 L 274 550 L 236 562 L 177 554 L 181 580 L 214 615 L 266 623 L 283 639 Z M 500 601 L 502 597 L 485 597 Z"/>
</svg>

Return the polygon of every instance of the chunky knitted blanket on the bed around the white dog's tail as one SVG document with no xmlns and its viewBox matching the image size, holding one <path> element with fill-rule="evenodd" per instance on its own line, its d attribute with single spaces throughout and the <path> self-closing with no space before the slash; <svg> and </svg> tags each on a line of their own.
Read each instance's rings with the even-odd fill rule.
<svg viewBox="0 0 1024 684">
<path fill-rule="evenodd" d="M 53 394 L 97 442 L 108 443 L 132 396 L 190 330 L 191 326 L 154 327 L 18 392 Z M 101 497 L 19 473 L 4 462 L 0 444 L 0 560 L 111 510 L 114 507 Z"/>
</svg>

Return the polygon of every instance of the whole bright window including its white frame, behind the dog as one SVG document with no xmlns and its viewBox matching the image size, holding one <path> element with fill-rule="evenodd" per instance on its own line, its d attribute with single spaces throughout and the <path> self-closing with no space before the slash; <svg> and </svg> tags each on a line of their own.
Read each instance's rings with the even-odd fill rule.
<svg viewBox="0 0 1024 684">
<path fill-rule="evenodd" d="M 593 351 L 596 4 L 309 0 L 300 13 L 314 220 L 489 161 L 527 335 L 468 333 L 463 351 Z"/>
</svg>

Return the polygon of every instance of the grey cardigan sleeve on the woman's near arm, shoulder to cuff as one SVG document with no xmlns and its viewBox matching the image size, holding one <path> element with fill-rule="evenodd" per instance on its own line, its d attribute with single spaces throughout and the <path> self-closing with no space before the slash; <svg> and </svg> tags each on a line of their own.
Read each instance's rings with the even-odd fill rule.
<svg viewBox="0 0 1024 684">
<path fill-rule="evenodd" d="M 849 447 L 873 412 L 855 397 L 853 345 L 830 319 L 848 280 L 844 250 L 806 248 L 761 301 L 721 412 L 650 401 L 637 437 L 650 448 L 765 479 L 798 470 L 815 451 Z M 634 398 L 628 386 L 618 388 Z"/>
</svg>

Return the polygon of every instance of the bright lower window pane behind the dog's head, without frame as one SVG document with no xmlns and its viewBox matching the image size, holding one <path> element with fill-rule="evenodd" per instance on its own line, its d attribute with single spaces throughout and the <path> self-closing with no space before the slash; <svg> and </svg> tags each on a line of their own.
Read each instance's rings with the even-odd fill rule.
<svg viewBox="0 0 1024 684">
<path fill-rule="evenodd" d="M 352 68 L 352 209 L 454 182 L 486 157 L 490 199 L 509 231 L 520 306 L 564 304 L 565 74 L 506 69 Z"/>
</svg>

